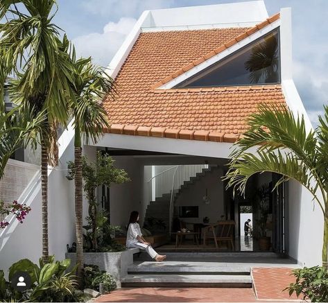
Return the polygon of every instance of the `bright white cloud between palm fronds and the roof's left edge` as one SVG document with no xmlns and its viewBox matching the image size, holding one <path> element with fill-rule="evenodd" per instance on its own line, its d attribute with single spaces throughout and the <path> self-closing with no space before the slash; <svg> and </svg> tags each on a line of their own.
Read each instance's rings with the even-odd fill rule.
<svg viewBox="0 0 328 303">
<path fill-rule="evenodd" d="M 103 33 L 81 35 L 73 40 L 79 56 L 92 56 L 96 64 L 107 67 L 110 60 L 130 33 L 137 20 L 122 17 L 118 22 L 109 22 L 103 28 Z"/>
</svg>

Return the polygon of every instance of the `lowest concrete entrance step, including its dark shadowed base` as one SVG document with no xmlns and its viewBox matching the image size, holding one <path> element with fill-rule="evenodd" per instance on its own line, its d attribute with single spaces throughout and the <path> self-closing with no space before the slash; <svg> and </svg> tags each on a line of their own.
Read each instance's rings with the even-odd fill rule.
<svg viewBox="0 0 328 303">
<path fill-rule="evenodd" d="M 250 275 L 127 275 L 121 287 L 251 288 Z"/>
</svg>

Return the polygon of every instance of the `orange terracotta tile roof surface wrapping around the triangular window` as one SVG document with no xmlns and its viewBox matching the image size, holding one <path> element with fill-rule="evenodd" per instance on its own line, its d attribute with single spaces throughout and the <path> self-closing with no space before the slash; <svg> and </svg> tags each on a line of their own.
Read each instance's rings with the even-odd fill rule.
<svg viewBox="0 0 328 303">
<path fill-rule="evenodd" d="M 113 134 L 234 142 L 260 103 L 285 104 L 280 85 L 153 89 L 250 28 L 141 33 L 104 101 Z"/>
</svg>

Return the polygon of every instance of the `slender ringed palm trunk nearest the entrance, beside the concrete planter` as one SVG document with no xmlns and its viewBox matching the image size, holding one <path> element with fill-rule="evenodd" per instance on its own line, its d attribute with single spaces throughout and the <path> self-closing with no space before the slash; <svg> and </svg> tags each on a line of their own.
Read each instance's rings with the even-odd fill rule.
<svg viewBox="0 0 328 303">
<path fill-rule="evenodd" d="M 83 288 L 83 189 L 82 189 L 82 148 L 81 135 L 78 125 L 75 129 L 74 139 L 74 163 L 75 163 L 75 226 L 76 226 L 76 263 L 78 268 L 76 275 L 78 285 Z"/>
</svg>

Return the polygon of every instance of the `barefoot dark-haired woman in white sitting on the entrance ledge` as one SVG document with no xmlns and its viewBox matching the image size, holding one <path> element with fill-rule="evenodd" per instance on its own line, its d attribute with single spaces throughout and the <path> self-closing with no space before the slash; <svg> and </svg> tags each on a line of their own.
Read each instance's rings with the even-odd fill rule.
<svg viewBox="0 0 328 303">
<path fill-rule="evenodd" d="M 141 234 L 139 226 L 139 213 L 138 211 L 132 211 L 130 214 L 130 220 L 128 225 L 128 234 L 126 236 L 126 247 L 127 248 L 141 248 L 146 250 L 152 259 L 155 261 L 163 261 L 166 256 L 157 254 Z"/>
</svg>

